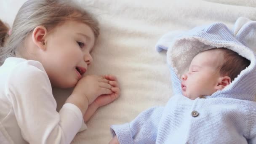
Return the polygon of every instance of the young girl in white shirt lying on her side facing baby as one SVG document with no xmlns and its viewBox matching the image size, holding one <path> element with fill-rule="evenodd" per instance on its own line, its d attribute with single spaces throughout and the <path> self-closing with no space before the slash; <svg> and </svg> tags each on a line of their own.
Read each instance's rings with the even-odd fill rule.
<svg viewBox="0 0 256 144">
<path fill-rule="evenodd" d="M 83 77 L 98 35 L 91 14 L 65 0 L 28 0 L 9 32 L 1 22 L 0 143 L 68 144 L 120 95 L 115 76 Z M 59 113 L 52 87 L 75 87 Z"/>
</svg>

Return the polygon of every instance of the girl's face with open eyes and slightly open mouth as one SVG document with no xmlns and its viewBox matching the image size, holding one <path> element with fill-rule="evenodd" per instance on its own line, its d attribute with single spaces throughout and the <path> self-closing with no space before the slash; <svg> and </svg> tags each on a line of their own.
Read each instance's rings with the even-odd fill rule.
<svg viewBox="0 0 256 144">
<path fill-rule="evenodd" d="M 76 21 L 66 21 L 48 32 L 41 63 L 52 86 L 76 85 L 93 60 L 90 53 L 94 42 L 92 29 Z"/>
</svg>

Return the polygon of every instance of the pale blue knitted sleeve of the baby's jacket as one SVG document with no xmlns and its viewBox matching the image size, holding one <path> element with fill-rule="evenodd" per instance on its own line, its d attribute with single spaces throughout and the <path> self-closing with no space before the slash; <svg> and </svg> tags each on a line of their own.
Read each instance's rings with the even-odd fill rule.
<svg viewBox="0 0 256 144">
<path fill-rule="evenodd" d="M 164 107 L 153 107 L 130 123 L 112 125 L 112 136 L 117 135 L 120 144 L 155 144 L 163 109 Z"/>
</svg>

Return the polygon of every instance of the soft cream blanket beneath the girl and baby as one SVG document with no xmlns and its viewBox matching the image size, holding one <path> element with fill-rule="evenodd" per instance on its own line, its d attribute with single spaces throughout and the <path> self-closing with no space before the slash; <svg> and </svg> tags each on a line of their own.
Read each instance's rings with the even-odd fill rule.
<svg viewBox="0 0 256 144">
<path fill-rule="evenodd" d="M 1 0 L 0 19 L 12 24 L 25 0 Z M 122 95 L 100 108 L 78 133 L 74 144 L 106 144 L 109 126 L 133 120 L 141 111 L 164 105 L 171 93 L 165 52 L 157 53 L 157 40 L 169 31 L 187 30 L 215 21 L 232 27 L 244 16 L 256 20 L 254 0 L 80 0 L 93 7 L 101 23 L 101 35 L 87 74 L 113 74 Z M 11 10 L 11 11 L 10 11 Z M 58 107 L 70 94 L 54 89 Z"/>
</svg>

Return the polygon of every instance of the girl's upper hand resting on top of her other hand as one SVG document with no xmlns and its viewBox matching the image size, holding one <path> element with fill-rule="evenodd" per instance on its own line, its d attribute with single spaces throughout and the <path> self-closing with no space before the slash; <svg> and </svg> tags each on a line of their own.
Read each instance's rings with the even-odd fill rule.
<svg viewBox="0 0 256 144">
<path fill-rule="evenodd" d="M 91 104 L 98 96 L 111 94 L 112 86 L 104 76 L 88 75 L 78 81 L 72 94 L 82 95 Z"/>
</svg>

